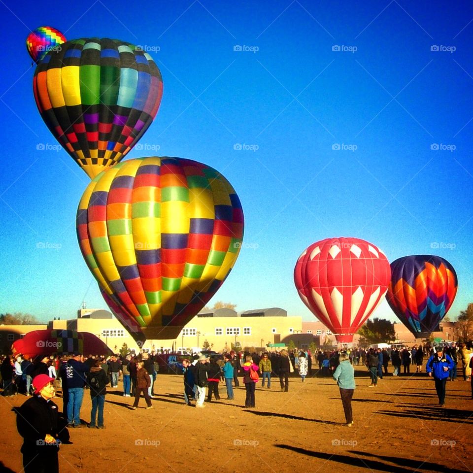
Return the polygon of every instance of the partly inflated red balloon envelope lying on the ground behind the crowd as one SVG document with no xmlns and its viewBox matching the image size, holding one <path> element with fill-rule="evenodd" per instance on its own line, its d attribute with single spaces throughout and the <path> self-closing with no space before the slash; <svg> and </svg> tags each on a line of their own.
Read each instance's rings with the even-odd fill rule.
<svg viewBox="0 0 473 473">
<path fill-rule="evenodd" d="M 85 354 L 109 355 L 112 351 L 100 338 L 76 330 L 34 330 L 13 342 L 13 355 L 22 353 L 28 358 L 80 351 Z"/>
</svg>

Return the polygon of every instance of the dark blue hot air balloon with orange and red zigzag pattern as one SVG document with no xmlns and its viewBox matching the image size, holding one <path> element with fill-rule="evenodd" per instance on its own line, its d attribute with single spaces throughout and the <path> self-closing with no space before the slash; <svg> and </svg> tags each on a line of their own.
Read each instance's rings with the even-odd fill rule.
<svg viewBox="0 0 473 473">
<path fill-rule="evenodd" d="M 447 260 L 404 256 L 391 263 L 386 299 L 415 338 L 427 338 L 453 304 L 457 288 L 457 275 Z"/>
</svg>

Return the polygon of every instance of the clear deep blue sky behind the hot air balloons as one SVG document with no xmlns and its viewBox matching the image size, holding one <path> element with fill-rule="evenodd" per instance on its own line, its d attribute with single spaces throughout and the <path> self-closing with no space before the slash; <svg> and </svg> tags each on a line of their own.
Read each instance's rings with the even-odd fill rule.
<svg viewBox="0 0 473 473">
<path fill-rule="evenodd" d="M 0 4 L 0 313 L 48 320 L 73 316 L 83 300 L 104 307 L 75 236 L 89 179 L 64 150 L 37 149 L 57 144 L 36 109 L 25 48 L 43 25 L 153 48 L 163 100 L 142 149 L 125 159 L 195 159 L 235 187 L 244 245 L 213 301 L 313 320 L 294 265 L 330 236 L 367 239 L 389 261 L 442 256 L 459 277 L 449 315 L 473 301 L 473 5 L 130 5 Z M 387 304 L 375 315 L 395 320 Z"/>
</svg>

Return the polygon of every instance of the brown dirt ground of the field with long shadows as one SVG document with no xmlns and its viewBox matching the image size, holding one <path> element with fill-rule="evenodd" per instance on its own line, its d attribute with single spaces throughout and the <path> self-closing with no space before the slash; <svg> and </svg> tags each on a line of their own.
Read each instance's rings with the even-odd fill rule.
<svg viewBox="0 0 473 473">
<path fill-rule="evenodd" d="M 179 375 L 159 374 L 154 408 L 144 399 L 131 410 L 133 398 L 109 389 L 105 426 L 70 429 L 72 444 L 62 445 L 65 472 L 472 472 L 473 400 L 470 382 L 447 382 L 446 408 L 438 406 L 434 382 L 425 374 L 380 380 L 370 388 L 364 367 L 356 367 L 354 425 L 344 425 L 338 387 L 329 377 L 304 383 L 290 378 L 289 392 L 256 391 L 256 409 L 243 407 L 245 391 L 235 400 L 184 404 Z M 392 367 L 390 368 L 392 372 Z M 13 406 L 23 395 L 0 397 L 0 471 L 22 472 Z M 62 408 L 62 399 L 55 399 Z M 86 391 L 81 409 L 90 420 Z M 3 462 L 3 466 L 1 466 Z M 10 469 L 10 470 L 8 470 Z"/>
</svg>

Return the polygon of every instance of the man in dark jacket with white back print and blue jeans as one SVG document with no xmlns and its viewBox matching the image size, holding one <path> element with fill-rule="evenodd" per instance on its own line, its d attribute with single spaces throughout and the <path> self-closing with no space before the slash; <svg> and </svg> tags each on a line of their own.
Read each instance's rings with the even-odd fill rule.
<svg viewBox="0 0 473 473">
<path fill-rule="evenodd" d="M 72 358 L 61 366 L 63 390 L 68 393 L 68 427 L 82 427 L 80 423 L 80 408 L 84 397 L 85 375 L 89 366 L 83 363 L 83 356 L 74 352 Z"/>
</svg>

